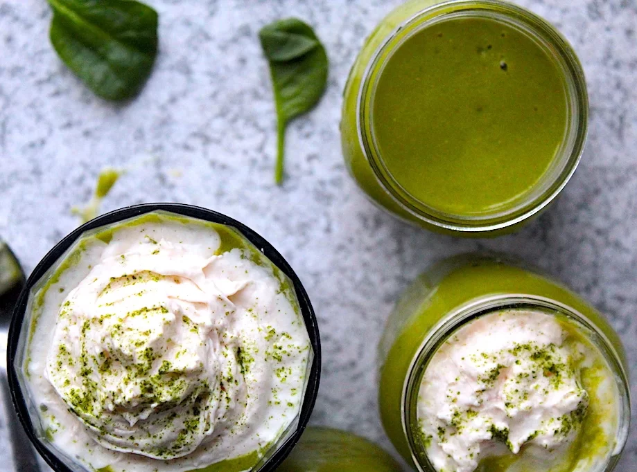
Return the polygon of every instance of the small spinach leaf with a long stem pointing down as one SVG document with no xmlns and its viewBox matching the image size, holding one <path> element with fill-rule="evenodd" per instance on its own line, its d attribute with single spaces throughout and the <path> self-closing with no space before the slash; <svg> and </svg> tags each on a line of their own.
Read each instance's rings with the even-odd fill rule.
<svg viewBox="0 0 637 472">
<path fill-rule="evenodd" d="M 325 48 L 310 26 L 296 18 L 264 26 L 259 39 L 270 62 L 270 75 L 277 108 L 277 165 L 274 180 L 283 179 L 283 149 L 286 125 L 317 104 L 327 84 Z"/>
</svg>

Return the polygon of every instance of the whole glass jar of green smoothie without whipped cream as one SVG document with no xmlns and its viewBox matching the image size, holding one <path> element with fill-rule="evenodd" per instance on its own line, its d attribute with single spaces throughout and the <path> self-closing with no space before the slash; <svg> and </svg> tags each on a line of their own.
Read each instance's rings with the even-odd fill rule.
<svg viewBox="0 0 637 472">
<path fill-rule="evenodd" d="M 466 48 L 466 63 L 476 61 L 475 66 L 462 66 L 464 60 L 454 66 L 457 57 L 448 55 L 456 46 L 442 42 L 444 25 L 482 20 L 495 25 L 495 37 Z M 508 28 L 501 38 L 499 26 Z M 433 28 L 440 32 L 434 34 Z M 432 37 L 405 49 L 428 31 Z M 516 51 L 515 44 L 499 43 L 507 34 L 538 50 L 517 51 L 518 63 L 507 64 L 507 53 Z M 425 48 L 428 52 L 421 52 Z M 555 72 L 551 83 L 541 82 L 548 73 L 527 77 L 539 67 L 525 61 L 538 54 L 546 56 L 546 71 Z M 420 56 L 428 62 L 411 63 Z M 392 61 L 402 62 L 394 66 Z M 471 74 L 483 66 L 484 82 L 475 82 Z M 509 88 L 496 82 L 505 76 L 516 78 L 502 82 Z M 518 96 L 530 83 L 534 88 Z M 482 97 L 485 87 L 491 87 L 491 95 Z M 559 107 L 549 98 L 552 89 Z M 480 102 L 483 98 L 486 102 Z M 539 106 L 532 100 L 546 102 Z M 511 116 L 497 121 L 503 110 Z M 562 121 L 550 125 L 557 116 Z M 356 58 L 344 88 L 340 131 L 347 169 L 373 203 L 430 230 L 480 237 L 516 230 L 557 197 L 579 163 L 587 120 L 582 66 L 547 21 L 500 0 L 411 0 L 378 24 Z M 483 136 L 485 129 L 490 131 Z M 540 147 L 549 134 L 552 140 Z M 500 155 L 507 150 L 512 154 Z M 460 161 L 454 161 L 458 156 Z M 539 165 L 539 158 L 546 162 Z M 485 160 L 488 169 L 481 164 Z"/>
</svg>

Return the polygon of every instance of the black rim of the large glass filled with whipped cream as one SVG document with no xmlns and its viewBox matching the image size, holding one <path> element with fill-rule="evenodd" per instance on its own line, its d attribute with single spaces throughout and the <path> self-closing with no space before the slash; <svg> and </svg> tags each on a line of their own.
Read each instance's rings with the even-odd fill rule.
<svg viewBox="0 0 637 472">
<path fill-rule="evenodd" d="M 19 347 L 19 338 L 21 329 L 23 328 L 24 316 L 26 315 L 27 302 L 30 295 L 30 291 L 37 285 L 38 282 L 46 275 L 46 272 L 58 261 L 58 259 L 64 255 L 64 253 L 75 244 L 82 235 L 85 235 L 87 231 L 97 230 L 98 228 L 104 228 L 112 224 L 119 223 L 120 221 L 146 215 L 150 212 L 163 211 L 172 213 L 173 215 L 181 215 L 185 217 L 191 217 L 193 219 L 200 219 L 203 221 L 210 221 L 213 223 L 223 224 L 231 226 L 236 229 L 243 237 L 245 237 L 251 244 L 254 244 L 259 250 L 267 257 L 272 264 L 277 266 L 293 283 L 293 287 L 296 292 L 296 296 L 299 302 L 302 316 L 306 325 L 306 330 L 310 338 L 311 347 L 313 350 L 313 357 L 311 359 L 311 365 L 308 366 L 308 377 L 306 380 L 306 390 L 301 409 L 298 413 L 298 423 L 295 426 L 293 434 L 289 435 L 284 442 L 277 444 L 274 442 L 274 452 L 268 457 L 268 453 L 265 453 L 264 457 L 267 457 L 265 463 L 261 464 L 259 472 L 272 472 L 277 469 L 277 466 L 285 460 L 288 454 L 296 446 L 297 442 L 305 430 L 308 421 L 310 419 L 312 410 L 315 405 L 315 401 L 318 394 L 318 387 L 321 376 L 321 345 L 320 334 L 318 329 L 317 318 L 312 307 L 308 293 L 303 287 L 303 284 L 295 271 L 288 262 L 283 258 L 281 253 L 277 251 L 268 241 L 266 241 L 261 235 L 254 230 L 248 228 L 241 222 L 227 217 L 222 213 L 202 208 L 199 206 L 187 205 L 184 203 L 141 203 L 139 205 L 127 206 L 108 212 L 105 215 L 91 219 L 85 224 L 82 224 L 67 236 L 62 238 L 58 244 L 55 244 L 51 251 L 47 253 L 42 260 L 35 266 L 33 272 L 26 280 L 26 284 L 22 289 L 15 309 L 12 314 L 11 324 L 8 336 L 7 345 L 7 375 L 9 381 L 9 388 L 11 392 L 11 400 L 13 407 L 17 411 L 17 416 L 20 423 L 26 431 L 26 435 L 30 439 L 30 442 L 35 446 L 38 453 L 44 458 L 44 461 L 51 466 L 51 469 L 55 472 L 72 472 L 69 467 L 57 456 L 46 447 L 44 442 L 35 434 L 35 428 L 30 418 L 28 406 L 26 403 L 26 392 L 23 392 L 18 380 L 18 372 L 15 366 L 15 359 L 19 354 L 17 352 Z M 293 424 L 290 424 L 293 426 Z M 285 437 L 285 434 L 281 434 L 281 438 Z M 279 439 L 281 439 L 279 438 Z"/>
</svg>

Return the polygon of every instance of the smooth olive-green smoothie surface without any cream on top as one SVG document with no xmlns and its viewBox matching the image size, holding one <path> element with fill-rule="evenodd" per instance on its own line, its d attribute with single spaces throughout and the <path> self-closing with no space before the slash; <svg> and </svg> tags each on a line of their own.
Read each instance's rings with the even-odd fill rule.
<svg viewBox="0 0 637 472">
<path fill-rule="evenodd" d="M 491 215 L 541 185 L 566 134 L 566 89 L 530 33 L 488 17 L 443 19 L 387 60 L 372 129 L 412 197 L 449 215 Z"/>
</svg>

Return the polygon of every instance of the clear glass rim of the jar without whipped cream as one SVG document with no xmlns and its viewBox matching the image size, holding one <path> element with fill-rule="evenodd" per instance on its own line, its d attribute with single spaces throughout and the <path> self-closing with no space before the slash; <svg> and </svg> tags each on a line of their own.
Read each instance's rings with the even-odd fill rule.
<svg viewBox="0 0 637 472">
<path fill-rule="evenodd" d="M 423 28 L 448 17 L 448 15 L 498 15 L 518 28 L 541 40 L 544 48 L 552 53 L 552 60 L 561 69 L 566 82 L 568 101 L 567 124 L 560 148 L 552 160 L 552 167 L 559 164 L 559 172 L 547 171 L 543 179 L 521 202 L 500 212 L 480 215 L 452 215 L 426 206 L 413 197 L 387 169 L 376 143 L 372 126 L 373 107 L 371 101 L 376 92 L 378 78 L 383 68 L 405 39 Z M 446 0 L 423 8 L 415 15 L 396 26 L 383 39 L 369 60 L 358 89 L 356 99 L 356 128 L 358 143 L 372 168 L 376 181 L 390 198 L 405 212 L 419 221 L 461 233 L 487 233 L 500 230 L 524 221 L 541 212 L 564 189 L 575 173 L 582 158 L 588 133 L 588 93 L 586 79 L 573 47 L 548 21 L 530 10 L 503 0 Z M 543 189 L 543 190 L 542 190 Z M 541 191 L 538 191 L 541 190 Z"/>
</svg>

